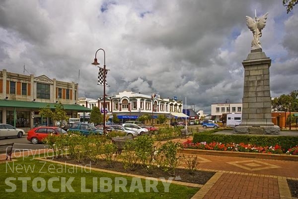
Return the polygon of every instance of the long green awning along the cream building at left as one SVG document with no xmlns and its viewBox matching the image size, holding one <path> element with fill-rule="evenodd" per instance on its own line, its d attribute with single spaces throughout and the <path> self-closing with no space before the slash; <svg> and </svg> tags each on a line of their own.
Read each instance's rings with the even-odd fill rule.
<svg viewBox="0 0 298 199">
<path fill-rule="evenodd" d="M 50 104 L 50 108 L 55 108 L 56 103 L 45 103 L 37 101 L 19 101 L 10 99 L 0 99 L 0 107 L 17 107 L 17 108 L 44 108 Z M 76 110 L 90 112 L 91 109 L 78 104 L 62 104 L 65 110 Z"/>
</svg>

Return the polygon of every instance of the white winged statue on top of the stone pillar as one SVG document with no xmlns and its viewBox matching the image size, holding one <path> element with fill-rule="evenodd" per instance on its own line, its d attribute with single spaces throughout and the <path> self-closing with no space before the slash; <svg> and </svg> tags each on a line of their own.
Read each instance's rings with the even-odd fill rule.
<svg viewBox="0 0 298 199">
<path fill-rule="evenodd" d="M 261 17 L 255 17 L 254 19 L 246 16 L 246 25 L 249 28 L 249 30 L 252 31 L 253 34 L 253 40 L 251 42 L 251 50 L 258 50 L 261 49 L 261 42 L 260 37 L 262 37 L 262 29 L 266 25 L 266 19 L 267 19 L 268 12 L 264 14 Z"/>
</svg>

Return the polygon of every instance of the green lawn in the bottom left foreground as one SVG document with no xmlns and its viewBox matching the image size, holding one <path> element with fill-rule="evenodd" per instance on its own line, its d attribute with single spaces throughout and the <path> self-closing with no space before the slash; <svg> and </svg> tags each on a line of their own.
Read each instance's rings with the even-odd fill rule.
<svg viewBox="0 0 298 199">
<path fill-rule="evenodd" d="M 90 170 L 89 167 L 86 170 L 81 170 L 80 167 L 72 167 L 66 166 L 64 164 L 56 164 L 52 162 L 46 162 L 42 160 L 33 159 L 32 156 L 26 158 L 17 158 L 17 161 L 9 161 L 0 163 L 0 193 L 1 198 L 5 199 L 24 199 L 24 198 L 99 198 L 99 199 L 188 199 L 191 198 L 199 188 L 186 187 L 181 185 L 170 184 L 169 192 L 164 192 L 164 186 L 162 182 L 158 182 L 156 189 L 158 192 L 154 192 L 152 188 L 150 188 L 150 192 L 146 191 L 146 180 L 142 179 L 138 181 L 138 179 L 133 179 L 132 177 L 120 176 L 105 172 L 93 171 Z M 30 166 L 30 168 L 29 168 Z M 29 168 L 29 169 L 28 169 Z M 22 186 L 24 183 L 21 179 L 18 178 L 30 178 L 27 181 L 27 187 Z M 57 181 L 53 181 L 52 188 L 56 189 L 51 192 L 51 186 L 49 188 L 49 179 L 56 177 Z M 100 178 L 111 178 L 111 191 L 102 192 L 100 188 L 108 189 L 108 186 L 104 186 L 100 184 Z M 116 192 L 118 186 L 115 186 L 115 178 L 123 177 L 127 180 L 126 190 L 128 192 L 124 192 L 123 189 L 119 189 L 119 192 Z M 162 176 L 160 176 L 162 177 Z M 7 178 L 15 178 L 7 182 Z M 43 186 L 45 187 L 42 190 L 42 183 L 37 181 L 38 179 L 44 179 L 45 183 Z M 74 180 L 71 182 L 71 179 Z M 81 178 L 85 178 L 85 189 L 90 189 L 90 192 L 82 192 L 81 191 Z M 97 178 L 97 186 L 93 183 L 93 178 Z M 71 182 L 71 187 L 74 192 L 70 192 L 71 189 L 63 188 L 65 187 L 62 183 L 63 179 L 65 182 Z M 5 183 L 6 180 L 6 183 Z M 35 182 L 35 180 L 37 182 Z M 166 179 L 167 180 L 167 179 Z M 24 181 L 25 182 L 25 181 Z M 140 183 L 141 182 L 141 183 Z M 13 184 L 11 184 L 13 183 Z M 105 181 L 107 183 L 107 181 Z M 123 182 L 120 181 L 119 184 Z M 150 181 L 150 184 L 153 184 L 153 181 Z M 117 183 L 116 183 L 117 185 Z M 134 192 L 130 192 L 131 185 L 135 186 Z M 93 192 L 93 186 L 97 187 L 97 192 Z M 7 192 L 7 190 L 11 190 L 12 187 L 15 187 L 15 191 Z M 23 190 L 24 189 L 24 190 Z M 35 189 L 35 191 L 34 191 Z M 40 189 L 40 190 L 39 190 Z M 144 192 L 141 192 L 144 190 Z M 26 191 L 26 192 L 25 192 Z M 36 192 L 37 191 L 37 192 Z M 38 192 L 39 191 L 39 192 Z M 71 190 L 72 191 L 72 190 Z M 156 190 L 155 190 L 156 191 Z"/>
</svg>

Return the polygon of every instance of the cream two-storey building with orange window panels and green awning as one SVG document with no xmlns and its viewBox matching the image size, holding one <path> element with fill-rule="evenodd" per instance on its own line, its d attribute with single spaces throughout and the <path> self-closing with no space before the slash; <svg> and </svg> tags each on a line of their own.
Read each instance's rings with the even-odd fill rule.
<svg viewBox="0 0 298 199">
<path fill-rule="evenodd" d="M 62 82 L 45 75 L 23 75 L 0 71 L 0 123 L 29 130 L 43 124 L 39 109 L 62 103 L 68 117 L 77 117 L 77 111 L 90 111 L 75 105 L 78 86 L 74 82 Z M 48 121 L 47 121 L 48 122 Z"/>
</svg>

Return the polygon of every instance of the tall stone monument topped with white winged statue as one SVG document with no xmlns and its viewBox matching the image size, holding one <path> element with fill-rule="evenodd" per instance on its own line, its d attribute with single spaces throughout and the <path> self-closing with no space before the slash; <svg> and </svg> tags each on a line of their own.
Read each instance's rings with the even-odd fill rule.
<svg viewBox="0 0 298 199">
<path fill-rule="evenodd" d="M 242 99 L 242 120 L 234 128 L 234 134 L 280 134 L 271 118 L 271 96 L 269 67 L 271 59 L 262 51 L 259 38 L 265 27 L 268 13 L 252 19 L 246 16 L 246 24 L 253 33 L 251 50 L 244 67 L 244 88 Z"/>
</svg>

